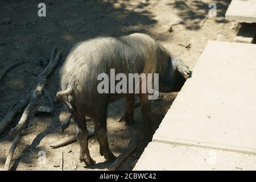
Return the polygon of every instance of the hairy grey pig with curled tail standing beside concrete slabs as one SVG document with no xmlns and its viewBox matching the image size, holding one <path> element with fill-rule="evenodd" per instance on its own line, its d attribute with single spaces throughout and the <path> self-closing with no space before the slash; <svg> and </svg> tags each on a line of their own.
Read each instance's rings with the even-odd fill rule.
<svg viewBox="0 0 256 182">
<path fill-rule="evenodd" d="M 57 93 L 76 123 L 76 135 L 80 144 L 80 161 L 86 165 L 94 164 L 88 149 L 86 117 L 92 118 L 100 154 L 106 160 L 115 156 L 110 151 L 106 119 L 110 102 L 125 97 L 123 120 L 133 122 L 134 93 L 99 93 L 97 79 L 100 73 L 110 75 L 110 69 L 116 73 L 158 73 L 159 92 L 177 91 L 185 80 L 191 77 L 191 71 L 180 59 L 175 59 L 154 38 L 146 34 L 131 34 L 121 37 L 90 39 L 76 44 L 60 70 L 60 92 Z M 144 133 L 152 137 L 151 105 L 149 93 L 139 93 L 139 102 L 144 121 Z"/>
</svg>

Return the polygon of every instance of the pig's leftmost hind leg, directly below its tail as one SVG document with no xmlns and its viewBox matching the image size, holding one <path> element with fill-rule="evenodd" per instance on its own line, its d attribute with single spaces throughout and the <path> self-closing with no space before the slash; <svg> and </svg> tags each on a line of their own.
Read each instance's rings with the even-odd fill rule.
<svg viewBox="0 0 256 182">
<path fill-rule="evenodd" d="M 88 148 L 88 131 L 86 127 L 85 115 L 73 113 L 73 119 L 76 123 L 76 136 L 80 144 L 80 161 L 85 162 L 86 165 L 95 164 L 95 161 L 90 158 Z"/>
</svg>

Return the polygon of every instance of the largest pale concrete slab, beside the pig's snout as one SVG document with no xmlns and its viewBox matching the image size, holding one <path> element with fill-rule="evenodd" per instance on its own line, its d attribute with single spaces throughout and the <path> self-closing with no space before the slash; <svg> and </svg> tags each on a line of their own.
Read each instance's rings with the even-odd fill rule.
<svg viewBox="0 0 256 182">
<path fill-rule="evenodd" d="M 256 154 L 256 44 L 211 41 L 153 140 Z"/>
</svg>

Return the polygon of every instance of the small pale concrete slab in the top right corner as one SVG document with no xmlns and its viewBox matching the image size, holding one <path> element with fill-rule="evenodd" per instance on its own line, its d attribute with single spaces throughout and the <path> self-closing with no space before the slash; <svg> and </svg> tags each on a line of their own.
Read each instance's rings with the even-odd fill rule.
<svg viewBox="0 0 256 182">
<path fill-rule="evenodd" d="M 232 0 L 226 11 L 225 18 L 241 23 L 256 23 L 256 1 Z"/>
</svg>

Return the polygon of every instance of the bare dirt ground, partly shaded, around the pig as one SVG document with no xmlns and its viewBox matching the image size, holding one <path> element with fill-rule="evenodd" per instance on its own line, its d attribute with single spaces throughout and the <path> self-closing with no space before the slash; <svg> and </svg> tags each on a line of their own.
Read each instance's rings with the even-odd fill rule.
<svg viewBox="0 0 256 182">
<path fill-rule="evenodd" d="M 38 16 L 38 3 L 46 3 L 46 17 Z M 238 24 L 225 20 L 229 2 L 216 1 L 217 16 L 208 17 L 209 3 L 213 1 L 86 1 L 86 0 L 2 0 L 0 1 L 0 70 L 18 60 L 25 63 L 11 69 L 0 83 L 0 119 L 15 101 L 26 96 L 35 86 L 36 78 L 27 71 L 40 73 L 49 61 L 53 47 L 63 49 L 63 57 L 46 86 L 54 98 L 58 89 L 59 69 L 73 44 L 97 36 L 121 36 L 144 32 L 154 36 L 173 55 L 184 59 L 193 68 L 208 40 L 232 42 Z M 208 18 L 206 18 L 208 17 Z M 172 26 L 173 25 L 173 26 Z M 170 30 L 170 27 L 171 30 Z M 216 52 L 216 56 L 218 53 Z M 165 93 L 152 102 L 153 127 L 156 130 L 170 108 L 177 93 Z M 39 105 L 47 105 L 42 98 Z M 142 154 L 147 141 L 142 137 L 140 107 L 135 109 L 134 124 L 126 126 L 117 117 L 123 109 L 123 100 L 110 104 L 108 109 L 108 138 L 115 156 L 125 151 L 129 141 L 139 135 L 137 150 L 118 168 L 131 170 Z M 64 170 L 107 170 L 110 162 L 100 155 L 96 137 L 89 139 L 90 155 L 96 164 L 79 163 L 79 144 L 72 143 L 57 149 L 50 144 L 75 133 L 71 126 L 61 134 L 60 125 L 67 117 L 65 107 L 56 107 L 53 114 L 38 114 L 30 119 L 28 134 L 20 139 L 11 170 L 60 170 L 61 152 Z M 15 118 L 18 122 L 20 115 Z M 1 121 L 1 120 L 0 120 Z M 10 126 L 11 127 L 14 125 Z M 88 122 L 89 129 L 93 123 Z M 5 134 L 0 139 L 0 167 L 5 163 L 13 138 Z M 36 156 L 46 152 L 46 164 L 39 164 Z M 152 159 L 154 163 L 154 159 Z"/>
</svg>

